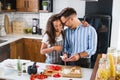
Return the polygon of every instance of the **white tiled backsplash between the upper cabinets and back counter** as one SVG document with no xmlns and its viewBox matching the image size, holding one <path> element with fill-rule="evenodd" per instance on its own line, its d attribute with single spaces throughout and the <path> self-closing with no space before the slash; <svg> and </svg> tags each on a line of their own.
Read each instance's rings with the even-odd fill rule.
<svg viewBox="0 0 120 80">
<path fill-rule="evenodd" d="M 14 20 L 22 19 L 26 22 L 26 27 L 32 27 L 32 19 L 38 18 L 39 19 L 39 27 L 43 30 L 46 29 L 46 23 L 48 18 L 53 13 L 3 13 L 0 14 L 0 25 L 4 25 L 4 16 L 8 15 L 9 21 L 12 22 Z"/>
</svg>

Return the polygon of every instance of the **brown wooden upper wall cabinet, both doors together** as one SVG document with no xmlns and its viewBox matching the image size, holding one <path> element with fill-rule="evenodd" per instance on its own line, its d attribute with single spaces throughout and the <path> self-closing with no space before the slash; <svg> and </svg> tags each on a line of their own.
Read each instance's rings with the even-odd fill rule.
<svg viewBox="0 0 120 80">
<path fill-rule="evenodd" d="M 38 0 L 16 0 L 16 8 L 20 12 L 38 12 L 38 3 Z"/>
</svg>

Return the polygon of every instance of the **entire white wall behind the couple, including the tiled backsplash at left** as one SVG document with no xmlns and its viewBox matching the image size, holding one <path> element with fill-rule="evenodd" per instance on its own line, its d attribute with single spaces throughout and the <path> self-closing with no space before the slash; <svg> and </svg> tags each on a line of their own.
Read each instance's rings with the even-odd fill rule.
<svg viewBox="0 0 120 80">
<path fill-rule="evenodd" d="M 78 7 L 79 6 L 79 7 Z M 78 13 L 78 17 L 82 18 L 85 14 L 85 1 L 81 0 L 53 0 L 53 13 L 60 12 L 65 7 L 73 7 Z M 46 22 L 53 13 L 20 13 L 9 12 L 0 13 L 0 25 L 4 25 L 4 15 L 8 15 L 10 22 L 13 20 L 23 20 L 26 22 L 27 27 L 32 27 L 32 18 L 40 19 L 40 28 L 46 29 Z"/>
</svg>

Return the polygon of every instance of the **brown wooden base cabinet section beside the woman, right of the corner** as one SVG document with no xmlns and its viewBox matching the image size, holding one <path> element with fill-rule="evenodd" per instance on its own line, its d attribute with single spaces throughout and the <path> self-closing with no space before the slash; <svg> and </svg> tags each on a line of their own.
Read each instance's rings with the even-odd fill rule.
<svg viewBox="0 0 120 80">
<path fill-rule="evenodd" d="M 39 39 L 24 39 L 24 54 L 25 59 L 36 61 L 36 62 L 45 62 L 45 55 L 40 54 L 41 40 Z"/>
</svg>

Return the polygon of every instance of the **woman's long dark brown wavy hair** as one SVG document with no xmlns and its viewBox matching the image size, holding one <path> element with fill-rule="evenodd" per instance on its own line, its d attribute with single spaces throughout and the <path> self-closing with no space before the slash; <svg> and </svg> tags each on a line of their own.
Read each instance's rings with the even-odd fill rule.
<svg viewBox="0 0 120 80">
<path fill-rule="evenodd" d="M 56 40 L 55 40 L 55 37 L 56 37 L 56 31 L 55 31 L 55 28 L 54 28 L 54 25 L 53 25 L 53 22 L 56 21 L 56 20 L 60 20 L 59 18 L 59 15 L 58 14 L 54 14 L 52 15 L 48 21 L 47 21 L 47 25 L 46 25 L 46 32 L 48 34 L 48 41 L 49 41 L 49 44 L 52 46 L 55 44 Z M 62 35 L 63 35 L 63 31 L 61 32 Z"/>
</svg>

